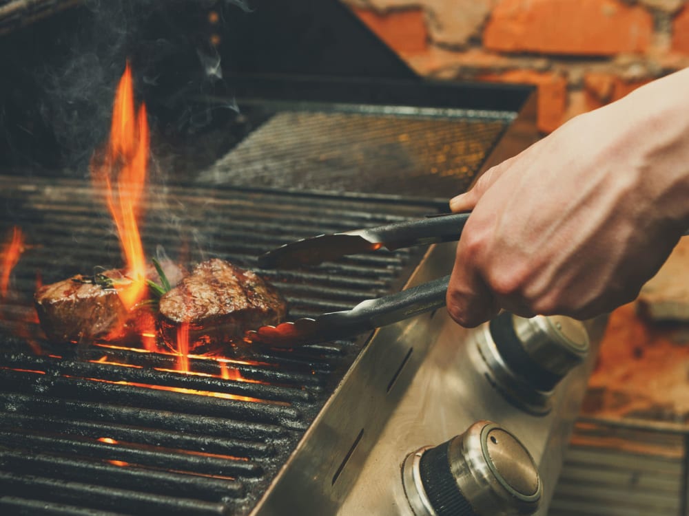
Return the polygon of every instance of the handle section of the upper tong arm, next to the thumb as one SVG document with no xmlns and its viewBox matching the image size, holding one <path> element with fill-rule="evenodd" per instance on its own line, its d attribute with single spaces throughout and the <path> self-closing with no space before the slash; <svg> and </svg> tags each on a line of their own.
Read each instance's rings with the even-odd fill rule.
<svg viewBox="0 0 689 516">
<path fill-rule="evenodd" d="M 389 250 L 403 247 L 455 241 L 470 213 L 449 213 L 425 219 L 397 222 L 387 226 L 347 231 L 345 235 L 359 235 L 371 242 L 382 242 Z"/>
</svg>

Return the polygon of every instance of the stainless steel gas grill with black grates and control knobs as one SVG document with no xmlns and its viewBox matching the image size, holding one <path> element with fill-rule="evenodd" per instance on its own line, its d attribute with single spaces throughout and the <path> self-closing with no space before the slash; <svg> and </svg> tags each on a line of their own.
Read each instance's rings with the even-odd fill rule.
<svg viewBox="0 0 689 516">
<path fill-rule="evenodd" d="M 214 160 L 186 147 L 176 149 L 178 160 L 160 155 L 142 223 L 147 255 L 186 264 L 221 257 L 256 270 L 285 295 L 289 319 L 347 310 L 447 274 L 452 244 L 307 270 L 262 270 L 256 257 L 319 233 L 446 210 L 447 199 L 486 167 L 533 141 L 531 88 L 420 80 L 337 2 L 265 0 L 254 12 L 231 12 L 219 49 L 228 56 L 228 90 L 185 96 L 192 109 L 222 113 L 219 124 L 189 136 L 216 139 L 222 152 Z M 295 25 L 282 23 L 288 15 Z M 21 39 L 41 24 L 59 30 L 50 23 L 83 20 L 88 10 L 59 16 L 14 34 Z M 347 45 L 331 43 L 338 38 Z M 223 108 L 235 102 L 238 111 Z M 165 109 L 153 112 L 161 124 L 169 120 Z M 12 113 L 36 122 L 31 109 Z M 12 124 L 8 148 L 19 141 Z M 50 154 L 42 145 L 37 136 L 20 150 Z M 484 454 L 513 491 L 522 484 L 502 468 L 516 470 L 515 457 L 531 460 L 538 491 L 514 497 L 528 499 L 524 514 L 546 513 L 600 321 L 586 324 L 583 365 L 568 363 L 576 353 L 567 321 L 515 322 L 520 350 L 520 331 L 531 332 L 520 360 L 533 370 L 521 372 L 502 341 L 493 342 L 495 328 L 463 330 L 443 310 L 294 350 L 227 345 L 184 357 L 135 343 L 50 343 L 32 305 L 37 283 L 121 266 L 119 245 L 96 186 L 50 168 L 54 156 L 40 168 L 9 158 L 0 174 L 0 233 L 17 226 L 25 241 L 0 300 L 3 510 L 420 515 L 436 495 L 428 474 L 411 493 L 429 462 L 414 452 L 471 427 L 466 446 L 482 439 L 490 450 L 499 437 L 517 454 L 507 462 Z M 564 347 L 542 352 L 544 336 Z M 532 372 L 542 383 L 524 379 Z M 478 502 L 469 495 L 462 489 L 469 505 L 460 514 L 502 510 L 504 500 L 486 502 L 495 493 Z M 486 503 L 495 509 L 485 512 Z"/>
</svg>

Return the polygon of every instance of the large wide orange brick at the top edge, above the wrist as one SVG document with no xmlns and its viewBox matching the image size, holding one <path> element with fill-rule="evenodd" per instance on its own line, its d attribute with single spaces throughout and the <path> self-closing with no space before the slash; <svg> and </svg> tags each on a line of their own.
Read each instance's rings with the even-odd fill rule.
<svg viewBox="0 0 689 516">
<path fill-rule="evenodd" d="M 644 52 L 653 19 L 617 0 L 501 0 L 483 34 L 502 52 L 600 55 Z"/>
</svg>

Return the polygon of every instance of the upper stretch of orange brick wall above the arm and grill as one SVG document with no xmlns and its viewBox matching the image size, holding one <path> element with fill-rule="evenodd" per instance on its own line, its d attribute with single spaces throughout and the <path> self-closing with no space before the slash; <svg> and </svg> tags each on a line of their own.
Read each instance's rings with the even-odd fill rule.
<svg viewBox="0 0 689 516">
<path fill-rule="evenodd" d="M 544 132 L 689 66 L 689 0 L 342 1 L 422 75 L 537 85 Z"/>
</svg>

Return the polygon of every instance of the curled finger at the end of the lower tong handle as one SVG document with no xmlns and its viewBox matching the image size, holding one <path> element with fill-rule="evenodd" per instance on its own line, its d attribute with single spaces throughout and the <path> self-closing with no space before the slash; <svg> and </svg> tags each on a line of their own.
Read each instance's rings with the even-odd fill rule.
<svg viewBox="0 0 689 516">
<path fill-rule="evenodd" d="M 446 301 L 452 319 L 464 327 L 480 325 L 500 311 L 500 305 L 483 279 L 477 272 L 466 268 L 460 259 L 455 261 Z"/>
</svg>

